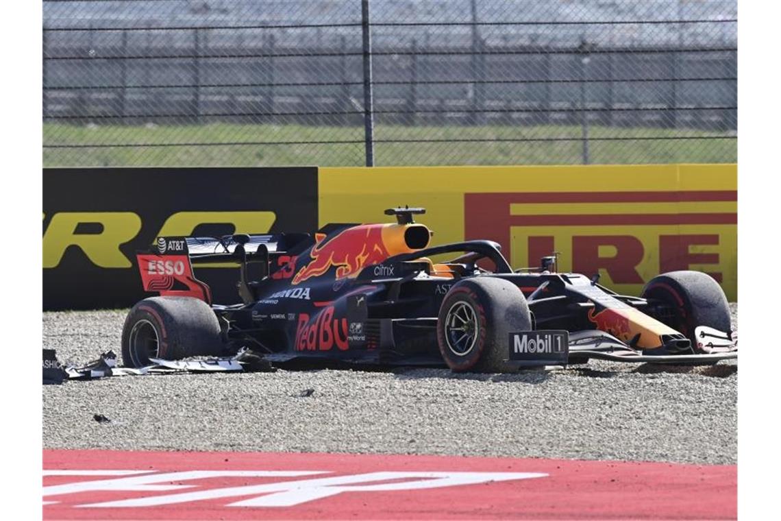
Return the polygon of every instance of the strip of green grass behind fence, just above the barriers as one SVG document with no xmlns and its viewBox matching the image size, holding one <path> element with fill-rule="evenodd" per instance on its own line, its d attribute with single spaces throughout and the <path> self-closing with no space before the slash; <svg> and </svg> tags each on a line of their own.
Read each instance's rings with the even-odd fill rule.
<svg viewBox="0 0 781 521">
<path fill-rule="evenodd" d="M 580 126 L 405 127 L 378 125 L 375 164 L 505 165 L 580 164 Z M 723 139 L 691 139 L 705 136 Z M 490 141 L 572 138 L 576 141 Z M 590 137 L 687 137 L 637 141 L 590 141 L 592 163 L 736 162 L 737 140 L 703 130 L 590 127 Z M 409 140 L 383 143 L 383 140 Z M 465 142 L 448 140 L 481 139 Z M 136 145 L 112 148 L 44 148 L 44 166 L 362 166 L 363 127 L 243 125 L 95 126 L 44 124 L 44 144 Z M 421 142 L 421 140 L 444 140 Z M 357 141 L 298 145 L 141 146 L 170 143 Z"/>
</svg>

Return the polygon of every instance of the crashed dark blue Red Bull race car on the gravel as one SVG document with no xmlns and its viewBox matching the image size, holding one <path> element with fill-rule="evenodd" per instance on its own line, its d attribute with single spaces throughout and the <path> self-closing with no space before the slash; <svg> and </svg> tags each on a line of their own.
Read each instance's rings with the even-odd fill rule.
<svg viewBox="0 0 781 521">
<path fill-rule="evenodd" d="M 558 255 L 512 269 L 493 241 L 430 246 L 424 209 L 396 223 L 316 234 L 159 237 L 137 264 L 145 291 L 122 334 L 125 366 L 251 349 L 271 363 L 327 359 L 506 372 L 589 359 L 711 364 L 737 356 L 711 277 L 654 277 L 639 297 L 598 275 L 558 273 Z M 432 258 L 443 260 L 432 260 Z M 237 265 L 241 303 L 212 302 L 193 265 Z"/>
</svg>

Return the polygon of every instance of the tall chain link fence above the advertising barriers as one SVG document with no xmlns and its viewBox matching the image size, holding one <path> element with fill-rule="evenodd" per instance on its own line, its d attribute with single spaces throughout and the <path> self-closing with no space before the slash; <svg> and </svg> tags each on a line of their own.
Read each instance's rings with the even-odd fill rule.
<svg viewBox="0 0 781 521">
<path fill-rule="evenodd" d="M 736 19 L 736 0 L 44 0 L 44 163 L 735 162 Z"/>
</svg>

